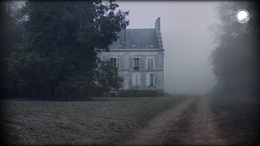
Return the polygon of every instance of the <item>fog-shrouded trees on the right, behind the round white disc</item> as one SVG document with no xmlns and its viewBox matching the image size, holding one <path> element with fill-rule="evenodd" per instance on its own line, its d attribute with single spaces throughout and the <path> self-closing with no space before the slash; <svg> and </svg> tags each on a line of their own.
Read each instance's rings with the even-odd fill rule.
<svg viewBox="0 0 260 146">
<path fill-rule="evenodd" d="M 208 27 L 217 44 L 209 60 L 218 81 L 216 94 L 259 95 L 259 7 L 251 1 L 222 2 L 217 7 L 220 23 Z M 239 23 L 236 12 L 245 9 L 249 20 Z"/>
</svg>

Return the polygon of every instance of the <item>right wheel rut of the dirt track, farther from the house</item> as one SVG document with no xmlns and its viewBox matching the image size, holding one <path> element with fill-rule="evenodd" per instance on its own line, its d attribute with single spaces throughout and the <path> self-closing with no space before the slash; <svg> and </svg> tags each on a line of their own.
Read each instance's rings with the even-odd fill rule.
<svg viewBox="0 0 260 146">
<path fill-rule="evenodd" d="M 169 130 L 167 145 L 225 145 L 226 141 L 219 138 L 220 130 L 213 122 L 213 114 L 210 111 L 209 98 L 199 97 L 196 112 L 190 117 L 190 124 L 184 127 L 173 126 Z"/>
</svg>

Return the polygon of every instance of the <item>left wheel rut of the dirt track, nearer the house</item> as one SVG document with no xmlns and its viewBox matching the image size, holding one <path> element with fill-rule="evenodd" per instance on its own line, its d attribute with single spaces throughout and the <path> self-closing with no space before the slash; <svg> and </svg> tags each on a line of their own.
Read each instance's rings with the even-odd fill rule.
<svg viewBox="0 0 260 146">
<path fill-rule="evenodd" d="M 188 98 L 169 111 L 155 117 L 149 121 L 147 126 L 143 129 L 137 129 L 135 139 L 118 141 L 117 145 L 161 145 L 163 142 L 163 135 L 167 132 L 168 126 L 179 120 L 180 115 L 185 108 L 194 101 L 194 98 Z"/>
</svg>

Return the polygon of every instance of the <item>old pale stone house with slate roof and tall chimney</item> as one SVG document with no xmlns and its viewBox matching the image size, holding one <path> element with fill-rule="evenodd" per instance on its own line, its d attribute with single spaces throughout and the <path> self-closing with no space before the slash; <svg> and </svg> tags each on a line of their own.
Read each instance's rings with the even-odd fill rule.
<svg viewBox="0 0 260 146">
<path fill-rule="evenodd" d="M 122 88 L 134 90 L 164 90 L 164 49 L 160 33 L 160 17 L 155 28 L 124 29 L 110 51 L 101 51 L 101 60 L 112 60 L 124 79 Z M 114 96 L 116 91 L 111 91 Z"/>
</svg>

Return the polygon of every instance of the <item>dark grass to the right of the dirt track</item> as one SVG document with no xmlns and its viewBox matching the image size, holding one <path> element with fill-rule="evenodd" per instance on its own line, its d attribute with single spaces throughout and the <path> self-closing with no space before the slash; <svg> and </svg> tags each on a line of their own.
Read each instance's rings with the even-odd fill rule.
<svg viewBox="0 0 260 146">
<path fill-rule="evenodd" d="M 227 144 L 260 144 L 260 97 L 212 96 L 210 107 Z"/>
</svg>

